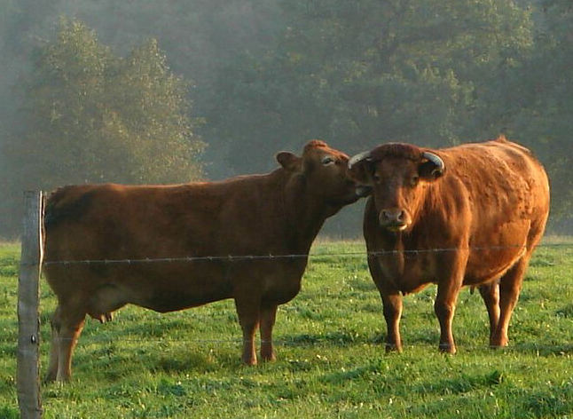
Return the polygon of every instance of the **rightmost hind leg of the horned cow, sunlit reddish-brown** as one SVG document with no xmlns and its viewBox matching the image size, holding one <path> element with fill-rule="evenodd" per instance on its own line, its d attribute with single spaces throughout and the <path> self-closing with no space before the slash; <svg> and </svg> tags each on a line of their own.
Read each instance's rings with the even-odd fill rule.
<svg viewBox="0 0 573 419">
<path fill-rule="evenodd" d="M 522 257 L 499 281 L 499 321 L 490 341 L 493 348 L 507 346 L 509 320 L 522 289 L 523 275 L 530 262 L 530 256 L 529 254 Z"/>
</svg>

